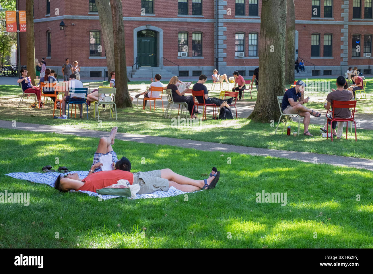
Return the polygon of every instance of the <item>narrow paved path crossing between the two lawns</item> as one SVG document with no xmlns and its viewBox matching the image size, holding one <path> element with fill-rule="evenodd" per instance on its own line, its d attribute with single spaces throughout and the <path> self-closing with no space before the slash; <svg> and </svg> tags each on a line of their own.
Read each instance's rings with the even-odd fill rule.
<svg viewBox="0 0 373 274">
<path fill-rule="evenodd" d="M 48 125 L 38 125 L 31 123 L 21 123 L 17 122 L 16 127 L 12 127 L 11 121 L 0 120 L 0 128 L 6 129 L 18 129 L 18 130 L 29 130 L 33 132 L 57 132 L 66 135 L 76 135 L 83 137 L 101 137 L 108 135 L 108 132 L 101 132 L 96 130 L 87 129 L 76 129 L 67 128 L 64 126 L 48 126 Z M 291 160 L 303 161 L 306 163 L 317 163 L 331 164 L 333 166 L 345 166 L 345 167 L 355 167 L 364 168 L 368 170 L 373 170 L 373 160 L 363 159 L 363 158 L 353 158 L 353 157 L 342 157 L 326 154 L 317 154 L 310 152 L 295 152 L 295 151 L 285 151 L 285 150 L 275 150 L 275 149 L 265 149 L 265 148 L 251 148 L 242 147 L 236 145 L 225 145 L 212 142 L 201 142 L 201 141 L 191 141 L 185 139 L 175 139 L 168 137 L 157 137 L 149 135 L 140 134 L 129 134 L 118 132 L 116 139 L 122 141 L 133 141 L 138 143 L 148 143 L 157 145 L 172 145 L 182 148 L 195 148 L 202 151 L 221 151 L 225 155 L 230 152 L 237 152 L 241 154 L 250 154 L 258 156 L 272 156 L 279 158 L 287 158 Z M 229 154 L 228 154 L 229 155 Z M 228 156 L 227 156 L 228 157 Z"/>
</svg>

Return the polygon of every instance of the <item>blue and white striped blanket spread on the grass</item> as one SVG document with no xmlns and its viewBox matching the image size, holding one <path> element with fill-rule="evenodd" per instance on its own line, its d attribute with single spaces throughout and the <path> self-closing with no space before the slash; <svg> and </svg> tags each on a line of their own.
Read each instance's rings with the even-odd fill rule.
<svg viewBox="0 0 373 274">
<path fill-rule="evenodd" d="M 88 175 L 88 171 L 70 171 L 68 173 L 78 173 L 80 179 L 84 179 Z M 34 182 L 34 183 L 49 185 L 52 188 L 54 188 L 54 181 L 57 179 L 58 176 L 61 175 L 61 173 L 58 173 L 58 172 L 47 172 L 47 173 L 15 172 L 15 173 L 9 173 L 5 175 L 16 178 L 16 179 L 27 180 L 27 181 Z M 82 192 L 90 196 L 97 196 L 103 200 L 108 200 L 112 198 L 121 198 L 119 196 L 114 196 L 114 195 L 99 195 L 96 192 L 92 192 L 88 190 L 78 190 L 78 191 L 70 190 L 70 191 L 71 192 Z M 165 197 L 172 197 L 172 196 L 177 196 L 177 195 L 181 195 L 185 193 L 188 193 L 188 192 L 184 192 L 184 191 L 174 188 L 173 186 L 170 186 L 168 191 L 155 191 L 150 194 L 141 194 L 141 195 L 137 194 L 134 199 L 165 198 Z"/>
</svg>

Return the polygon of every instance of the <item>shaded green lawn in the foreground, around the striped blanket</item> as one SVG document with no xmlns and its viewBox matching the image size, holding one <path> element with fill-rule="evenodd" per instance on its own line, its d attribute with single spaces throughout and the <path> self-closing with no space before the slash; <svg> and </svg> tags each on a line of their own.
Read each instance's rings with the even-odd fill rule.
<svg viewBox="0 0 373 274">
<path fill-rule="evenodd" d="M 216 166 L 222 175 L 188 201 L 98 201 L 4 176 L 47 164 L 88 170 L 98 138 L 2 129 L 0 142 L 0 192 L 29 192 L 31 200 L 0 204 L 1 248 L 373 248 L 371 171 L 116 141 L 133 172 L 170 168 L 203 179 Z M 262 190 L 286 192 L 287 204 L 257 203 Z"/>
</svg>

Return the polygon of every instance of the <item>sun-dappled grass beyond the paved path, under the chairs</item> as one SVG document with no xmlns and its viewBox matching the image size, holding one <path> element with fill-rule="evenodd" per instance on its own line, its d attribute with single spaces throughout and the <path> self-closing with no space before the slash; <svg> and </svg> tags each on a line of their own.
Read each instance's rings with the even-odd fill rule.
<svg viewBox="0 0 373 274">
<path fill-rule="evenodd" d="M 324 81 L 325 79 L 322 80 Z M 329 79 L 327 81 L 333 82 L 335 80 Z M 367 84 L 368 100 L 358 101 L 357 107 L 359 113 L 366 113 L 367 119 L 369 119 L 370 111 L 373 107 L 373 99 L 371 99 L 373 93 L 372 84 L 372 81 Z M 209 85 L 208 87 L 210 88 Z M 146 84 L 141 85 L 141 83 L 135 83 L 133 85 L 130 84 L 129 89 L 140 91 L 144 86 L 146 86 Z M 368 89 L 370 86 L 372 88 Z M 163 119 L 163 113 L 160 108 L 156 111 L 149 111 L 148 109 L 144 111 L 141 107 L 127 109 L 118 108 L 117 121 L 110 119 L 108 111 L 106 111 L 101 112 L 100 120 L 102 122 L 97 122 L 97 120 L 93 118 L 93 107 L 91 107 L 91 111 L 89 112 L 90 120 L 88 121 L 85 119 L 60 120 L 51 118 L 52 110 L 49 103 L 44 110 L 28 108 L 28 104 L 23 104 L 20 108 L 17 108 L 16 106 L 18 106 L 20 96 L 19 89 L 18 86 L 0 86 L 0 119 L 46 125 L 64 125 L 66 127 L 93 130 L 110 130 L 113 126 L 118 126 L 119 132 L 126 133 L 373 159 L 373 147 L 370 145 L 373 139 L 372 130 L 358 128 L 358 142 L 355 142 L 354 135 L 351 136 L 349 132 L 348 140 L 335 139 L 335 141 L 331 143 L 330 140 L 326 140 L 319 136 L 320 126 L 317 125 L 310 125 L 310 132 L 315 135 L 312 138 L 306 136 L 289 137 L 281 134 L 274 135 L 277 121 L 274 121 L 271 125 L 270 123 L 252 122 L 248 119 L 225 121 L 207 120 L 201 122 L 200 126 L 197 127 L 175 127 L 172 126 L 171 119 Z M 216 91 L 212 92 L 212 94 L 216 93 Z M 252 101 L 256 100 L 256 94 L 257 92 L 254 91 Z M 312 102 L 308 103 L 308 107 L 321 110 L 325 103 L 327 92 L 309 91 L 307 94 L 311 97 Z M 28 101 L 31 102 L 31 100 Z M 177 113 L 175 110 L 172 115 L 176 117 Z M 320 122 L 322 121 L 323 119 L 320 118 Z M 281 125 L 282 124 L 280 124 L 280 126 Z M 292 122 L 290 125 L 292 131 L 297 129 L 297 123 Z M 303 125 L 301 124 L 301 133 L 302 132 Z"/>
</svg>

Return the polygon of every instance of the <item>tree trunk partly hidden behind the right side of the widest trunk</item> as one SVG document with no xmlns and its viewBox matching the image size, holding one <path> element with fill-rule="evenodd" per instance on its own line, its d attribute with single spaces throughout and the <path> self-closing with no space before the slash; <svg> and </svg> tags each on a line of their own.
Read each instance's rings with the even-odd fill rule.
<svg viewBox="0 0 373 274">
<path fill-rule="evenodd" d="M 286 0 L 285 84 L 294 83 L 295 55 L 295 6 L 294 0 Z"/>
</svg>

